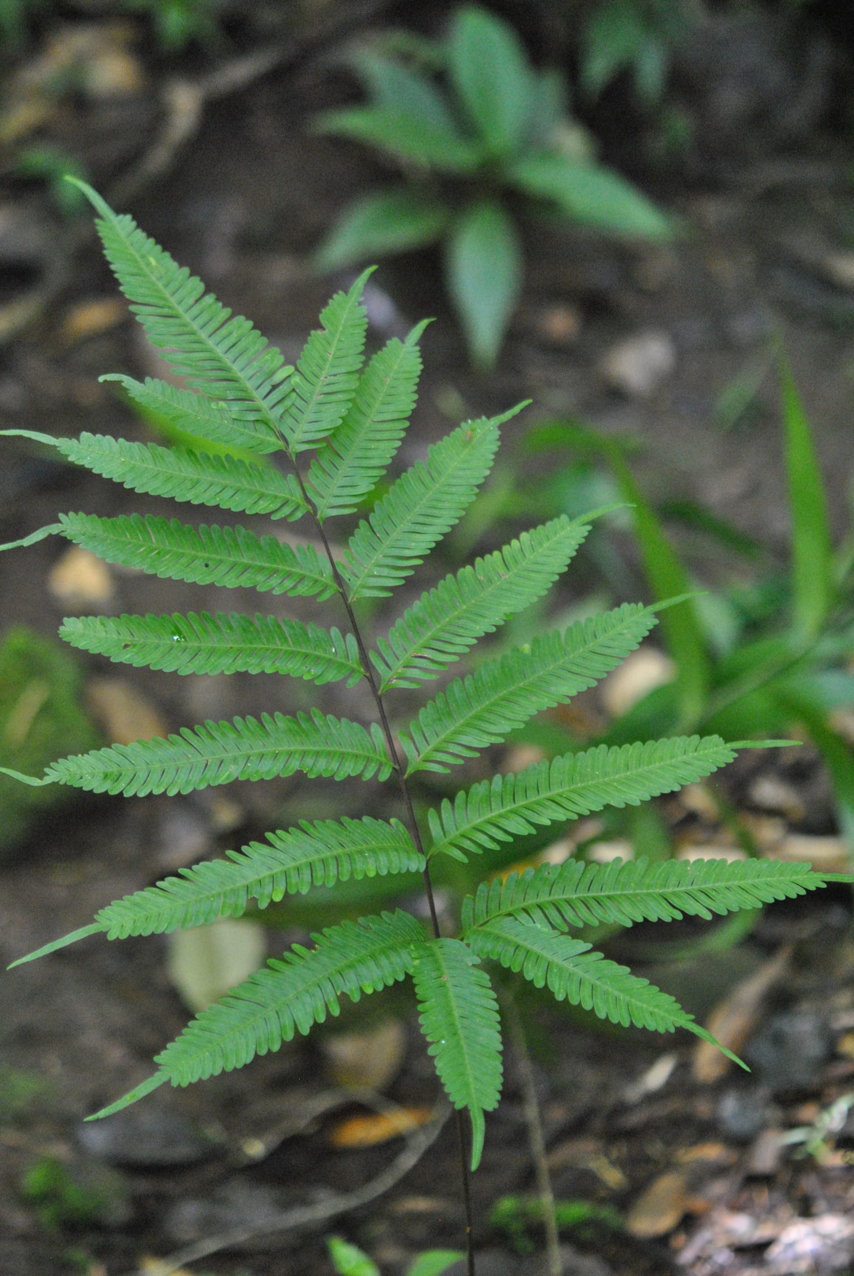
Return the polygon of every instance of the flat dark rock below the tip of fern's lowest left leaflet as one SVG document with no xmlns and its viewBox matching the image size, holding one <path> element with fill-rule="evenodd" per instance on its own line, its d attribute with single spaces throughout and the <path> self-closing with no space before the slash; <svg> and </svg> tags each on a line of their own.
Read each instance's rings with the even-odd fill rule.
<svg viewBox="0 0 854 1276">
<path fill-rule="evenodd" d="M 194 1165 L 211 1155 L 211 1143 L 174 1110 L 154 1104 L 125 1108 L 98 1122 L 82 1122 L 77 1141 L 109 1165 L 154 1169 Z"/>
</svg>

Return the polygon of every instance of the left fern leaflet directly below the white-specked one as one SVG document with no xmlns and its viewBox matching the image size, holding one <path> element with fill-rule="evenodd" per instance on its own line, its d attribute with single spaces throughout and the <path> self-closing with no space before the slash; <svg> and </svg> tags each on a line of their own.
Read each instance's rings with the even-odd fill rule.
<svg viewBox="0 0 854 1276">
<path fill-rule="evenodd" d="M 386 780 L 392 763 L 375 722 L 370 731 L 359 722 L 313 709 L 300 713 L 263 713 L 234 722 L 206 722 L 183 727 L 167 740 L 134 740 L 92 753 L 61 758 L 45 771 L 45 783 L 73 785 L 91 792 L 189 794 L 232 780 L 273 780 L 304 771 L 311 778 L 379 773 Z"/>
</svg>

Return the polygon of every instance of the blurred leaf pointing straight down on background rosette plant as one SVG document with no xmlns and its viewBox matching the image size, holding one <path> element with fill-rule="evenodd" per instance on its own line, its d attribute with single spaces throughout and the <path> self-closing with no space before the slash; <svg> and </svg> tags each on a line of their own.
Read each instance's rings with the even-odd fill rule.
<svg viewBox="0 0 854 1276">
<path fill-rule="evenodd" d="M 446 281 L 479 367 L 493 367 L 498 359 L 522 274 L 522 245 L 511 216 L 491 200 L 470 205 L 447 240 Z"/>
</svg>

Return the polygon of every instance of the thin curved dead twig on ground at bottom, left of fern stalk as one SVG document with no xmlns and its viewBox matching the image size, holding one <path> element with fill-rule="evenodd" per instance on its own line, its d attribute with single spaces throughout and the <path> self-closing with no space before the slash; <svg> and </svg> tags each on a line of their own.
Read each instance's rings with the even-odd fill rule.
<svg viewBox="0 0 854 1276">
<path fill-rule="evenodd" d="M 350 1097 L 352 1097 L 352 1094 Z M 364 1099 L 360 1101 L 364 1101 Z M 177 1272 L 186 1263 L 198 1262 L 200 1258 L 209 1258 L 211 1254 L 220 1253 L 223 1249 L 232 1249 L 235 1245 L 243 1245 L 248 1240 L 257 1240 L 260 1236 L 277 1235 L 282 1231 L 292 1231 L 296 1228 L 317 1225 L 338 1215 L 348 1213 L 351 1210 L 359 1210 L 361 1206 L 375 1201 L 377 1197 L 383 1196 L 383 1193 L 393 1188 L 417 1165 L 428 1148 L 439 1137 L 449 1115 L 451 1105 L 444 1099 L 439 1100 L 426 1125 L 407 1134 L 403 1151 L 374 1179 L 365 1183 L 364 1187 L 356 1188 L 354 1192 L 334 1193 L 317 1205 L 283 1210 L 274 1224 L 268 1224 L 264 1228 L 236 1228 L 232 1231 L 223 1231 L 216 1236 L 198 1240 L 191 1245 L 185 1245 L 183 1249 L 176 1250 L 174 1254 L 169 1254 L 156 1267 L 148 1265 L 144 1271 L 140 1268 L 130 1273 L 130 1276 L 172 1276 L 174 1272 Z"/>
</svg>

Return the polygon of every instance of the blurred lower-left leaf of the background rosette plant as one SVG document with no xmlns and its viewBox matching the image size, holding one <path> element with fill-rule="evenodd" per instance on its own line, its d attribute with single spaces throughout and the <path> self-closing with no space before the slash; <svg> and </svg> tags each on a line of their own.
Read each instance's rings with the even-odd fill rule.
<svg viewBox="0 0 854 1276">
<path fill-rule="evenodd" d="M 449 222 L 447 204 L 426 190 L 392 186 L 370 191 L 347 205 L 314 254 L 314 264 L 318 271 L 338 271 L 426 248 L 442 239 Z"/>
</svg>

